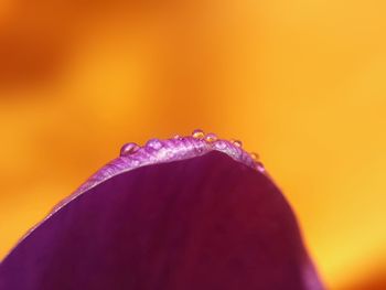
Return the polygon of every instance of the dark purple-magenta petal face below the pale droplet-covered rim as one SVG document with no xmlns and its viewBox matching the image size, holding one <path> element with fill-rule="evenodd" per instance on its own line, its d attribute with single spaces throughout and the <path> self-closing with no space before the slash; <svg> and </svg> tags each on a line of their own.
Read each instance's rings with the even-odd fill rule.
<svg viewBox="0 0 386 290">
<path fill-rule="evenodd" d="M 217 151 L 107 179 L 0 265 L 1 290 L 322 288 L 280 191 Z"/>
</svg>

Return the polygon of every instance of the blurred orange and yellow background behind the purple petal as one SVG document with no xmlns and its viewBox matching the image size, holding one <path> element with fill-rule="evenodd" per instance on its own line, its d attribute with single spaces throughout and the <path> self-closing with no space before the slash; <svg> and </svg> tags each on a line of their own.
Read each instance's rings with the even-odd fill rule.
<svg viewBox="0 0 386 290">
<path fill-rule="evenodd" d="M 330 289 L 386 289 L 386 2 L 0 0 L 0 257 L 127 141 L 238 138 Z"/>
</svg>

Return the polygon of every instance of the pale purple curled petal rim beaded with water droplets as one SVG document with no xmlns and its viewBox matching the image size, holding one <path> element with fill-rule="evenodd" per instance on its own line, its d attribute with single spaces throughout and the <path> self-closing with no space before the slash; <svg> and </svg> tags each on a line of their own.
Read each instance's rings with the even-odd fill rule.
<svg viewBox="0 0 386 290">
<path fill-rule="evenodd" d="M 133 142 L 124 144 L 120 149 L 120 158 L 112 160 L 98 170 L 83 183 L 71 197 L 55 207 L 50 215 L 85 191 L 117 174 L 147 164 L 194 158 L 213 150 L 224 152 L 230 158 L 267 174 L 264 165 L 259 162 L 258 154 L 246 152 L 240 141 L 219 139 L 215 133 L 204 133 L 203 130 L 197 129 L 194 130 L 191 136 L 182 137 L 176 135 L 167 140 L 150 139 L 143 147 Z"/>
</svg>

